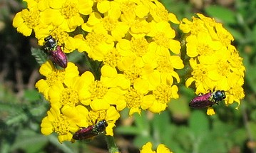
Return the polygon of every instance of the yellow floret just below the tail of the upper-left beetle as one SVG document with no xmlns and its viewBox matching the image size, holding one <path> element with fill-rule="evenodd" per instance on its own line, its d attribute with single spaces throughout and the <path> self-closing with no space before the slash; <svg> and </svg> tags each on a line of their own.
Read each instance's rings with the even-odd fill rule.
<svg viewBox="0 0 256 153">
<path fill-rule="evenodd" d="M 46 77 L 46 80 L 41 79 L 36 83 L 36 88 L 39 93 L 43 93 L 46 100 L 48 100 L 48 90 L 53 85 L 65 84 L 70 85 L 71 79 L 78 76 L 78 68 L 73 63 L 68 62 L 67 68 L 64 70 L 58 70 L 53 66 L 53 63 L 47 61 L 39 69 L 39 73 Z"/>
</svg>

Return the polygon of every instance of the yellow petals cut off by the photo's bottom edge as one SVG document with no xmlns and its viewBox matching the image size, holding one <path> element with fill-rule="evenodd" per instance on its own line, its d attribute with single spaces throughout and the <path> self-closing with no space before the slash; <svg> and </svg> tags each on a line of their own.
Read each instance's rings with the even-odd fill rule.
<svg viewBox="0 0 256 153">
<path fill-rule="evenodd" d="M 143 145 L 142 149 L 140 150 L 140 153 L 172 153 L 172 152 L 170 151 L 170 149 L 165 147 L 164 144 L 159 144 L 155 152 L 152 150 L 152 143 L 148 142 L 145 145 Z"/>
</svg>

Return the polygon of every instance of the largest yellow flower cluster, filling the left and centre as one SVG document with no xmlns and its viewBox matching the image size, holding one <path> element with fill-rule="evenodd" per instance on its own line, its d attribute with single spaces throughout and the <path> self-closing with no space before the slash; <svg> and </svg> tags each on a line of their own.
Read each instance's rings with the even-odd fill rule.
<svg viewBox="0 0 256 153">
<path fill-rule="evenodd" d="M 73 141 L 81 127 L 106 120 L 106 134 L 124 108 L 129 115 L 141 110 L 160 113 L 171 98 L 178 98 L 184 67 L 180 42 L 170 22 L 179 23 L 156 0 L 24 0 L 27 9 L 14 17 L 13 26 L 24 36 L 34 31 L 39 45 L 51 35 L 64 53 L 74 50 L 88 53 L 103 62 L 101 79 L 92 73 L 79 75 L 68 63 L 58 70 L 51 61 L 39 72 L 46 79 L 36 88 L 51 103 L 41 123 L 43 134 L 58 133 L 60 142 Z"/>
</svg>

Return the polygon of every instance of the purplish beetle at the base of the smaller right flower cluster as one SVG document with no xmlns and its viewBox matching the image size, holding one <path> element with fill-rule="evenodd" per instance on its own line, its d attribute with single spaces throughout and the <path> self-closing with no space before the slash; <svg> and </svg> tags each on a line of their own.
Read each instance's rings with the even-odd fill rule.
<svg viewBox="0 0 256 153">
<path fill-rule="evenodd" d="M 226 94 L 224 90 L 217 90 L 210 93 L 200 94 L 198 97 L 195 97 L 191 102 L 189 103 L 190 107 L 193 108 L 203 108 L 203 107 L 209 107 L 214 104 L 218 104 L 218 102 L 224 100 L 226 98 Z"/>
</svg>

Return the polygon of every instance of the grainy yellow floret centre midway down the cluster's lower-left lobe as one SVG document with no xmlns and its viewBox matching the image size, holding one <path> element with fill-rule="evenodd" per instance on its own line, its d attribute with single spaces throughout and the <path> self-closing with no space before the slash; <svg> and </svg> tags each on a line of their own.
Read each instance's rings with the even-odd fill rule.
<svg viewBox="0 0 256 153">
<path fill-rule="evenodd" d="M 75 106 L 78 103 L 78 92 L 71 88 L 65 88 L 61 95 L 61 105 Z"/>
</svg>

